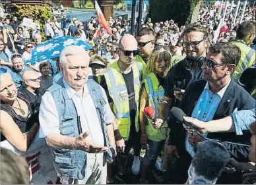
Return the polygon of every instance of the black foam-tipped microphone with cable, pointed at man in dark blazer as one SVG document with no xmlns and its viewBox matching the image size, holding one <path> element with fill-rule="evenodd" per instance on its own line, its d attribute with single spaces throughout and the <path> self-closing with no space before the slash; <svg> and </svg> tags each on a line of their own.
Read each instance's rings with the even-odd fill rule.
<svg viewBox="0 0 256 185">
<path fill-rule="evenodd" d="M 210 140 L 210 141 L 213 141 L 213 142 L 218 142 L 218 143 L 226 143 L 226 144 L 234 144 L 234 145 L 242 145 L 242 146 L 245 146 L 245 147 L 249 147 L 249 145 L 245 145 L 245 144 L 238 144 L 238 143 L 234 143 L 234 142 L 224 142 L 224 141 L 220 141 L 220 140 L 214 140 L 214 139 L 210 139 L 210 138 L 207 138 L 205 137 L 203 134 L 201 134 L 201 132 L 199 132 L 199 130 L 193 126 L 191 123 L 189 122 L 185 122 L 183 120 L 183 117 L 185 117 L 185 113 L 177 108 L 177 107 L 172 107 L 171 111 L 169 112 L 170 114 L 170 117 L 172 117 L 174 120 L 176 120 L 177 122 L 180 122 L 182 124 L 185 124 L 186 126 L 189 126 L 191 129 L 195 130 L 195 133 L 197 133 L 199 136 L 201 136 L 202 138 L 204 138 L 205 140 Z"/>
</svg>

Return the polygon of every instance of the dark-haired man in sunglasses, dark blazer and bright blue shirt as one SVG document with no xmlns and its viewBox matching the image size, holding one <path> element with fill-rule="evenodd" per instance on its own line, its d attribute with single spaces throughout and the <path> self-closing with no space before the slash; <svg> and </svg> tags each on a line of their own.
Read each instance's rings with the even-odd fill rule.
<svg viewBox="0 0 256 185">
<path fill-rule="evenodd" d="M 210 47 L 207 57 L 202 59 L 203 79 L 189 84 L 179 106 L 187 117 L 208 122 L 223 119 L 236 111 L 250 110 L 255 107 L 255 99 L 231 78 L 240 60 L 240 55 L 239 47 L 232 43 L 217 43 Z M 221 126 L 216 125 L 215 129 L 220 130 L 220 127 L 224 126 L 226 126 L 226 122 L 223 122 Z M 184 127 L 187 128 L 187 126 Z M 185 182 L 183 180 L 187 176 L 191 159 L 195 155 L 195 147 L 204 139 L 196 134 L 195 130 L 191 134 L 187 133 L 181 123 L 171 124 L 170 130 L 168 154 L 170 158 L 174 153 L 179 155 L 176 183 L 182 184 Z M 214 140 L 248 144 L 249 130 L 242 130 L 242 132 L 243 136 L 239 136 L 234 130 L 228 130 L 228 132 L 207 131 L 204 136 Z M 228 149 L 232 158 L 238 161 L 249 159 L 248 147 L 226 143 L 223 145 Z M 230 182 L 230 178 L 227 179 Z M 222 180 L 224 180 L 224 176 L 220 176 L 218 182 L 220 184 L 228 183 Z"/>
</svg>

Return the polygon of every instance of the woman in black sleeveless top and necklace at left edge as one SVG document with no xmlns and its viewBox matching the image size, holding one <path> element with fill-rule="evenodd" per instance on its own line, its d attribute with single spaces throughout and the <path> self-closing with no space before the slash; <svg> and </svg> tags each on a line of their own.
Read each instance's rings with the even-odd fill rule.
<svg viewBox="0 0 256 185">
<path fill-rule="evenodd" d="M 5 68 L 0 68 L 1 142 L 8 140 L 20 151 L 27 151 L 38 131 L 38 117 Z M 28 132 L 29 131 L 29 132 Z M 26 134 L 23 134 L 28 132 Z M 1 143 L 2 145 L 3 143 Z"/>
</svg>

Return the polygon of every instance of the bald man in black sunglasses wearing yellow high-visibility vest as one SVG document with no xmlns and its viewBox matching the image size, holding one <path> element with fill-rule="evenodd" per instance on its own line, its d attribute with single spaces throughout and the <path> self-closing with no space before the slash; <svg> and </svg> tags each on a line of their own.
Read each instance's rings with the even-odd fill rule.
<svg viewBox="0 0 256 185">
<path fill-rule="evenodd" d="M 139 132 L 139 92 L 141 89 L 142 65 L 135 61 L 138 55 L 137 41 L 133 36 L 123 36 L 117 48 L 119 60 L 113 63 L 100 76 L 100 85 L 106 91 L 108 102 L 115 115 L 117 126 L 113 128 L 117 145 L 119 174 L 117 179 L 123 181 L 127 165 L 127 156 L 131 147 L 134 149 L 132 171 L 140 171 L 140 132 Z M 122 141 L 125 141 L 125 147 Z M 111 168 L 108 168 L 111 169 Z M 110 172 L 110 170 L 108 171 Z M 110 175 L 108 182 L 112 182 Z"/>
</svg>

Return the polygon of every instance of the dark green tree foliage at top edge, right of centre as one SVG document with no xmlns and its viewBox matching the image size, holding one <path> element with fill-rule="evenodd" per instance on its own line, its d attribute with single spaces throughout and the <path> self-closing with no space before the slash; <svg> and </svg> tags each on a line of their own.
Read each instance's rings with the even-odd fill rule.
<svg viewBox="0 0 256 185">
<path fill-rule="evenodd" d="M 198 0 L 150 0 L 149 16 L 154 22 L 173 19 L 181 25 L 190 22 Z"/>
</svg>

